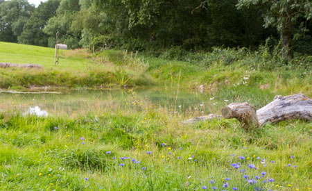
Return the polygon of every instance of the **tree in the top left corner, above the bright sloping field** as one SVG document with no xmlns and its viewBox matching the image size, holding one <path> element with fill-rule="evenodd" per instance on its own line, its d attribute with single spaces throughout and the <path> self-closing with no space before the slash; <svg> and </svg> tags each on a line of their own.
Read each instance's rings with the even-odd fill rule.
<svg viewBox="0 0 312 191">
<path fill-rule="evenodd" d="M 0 3 L 0 41 L 17 42 L 24 25 L 35 8 L 26 0 Z"/>
</svg>

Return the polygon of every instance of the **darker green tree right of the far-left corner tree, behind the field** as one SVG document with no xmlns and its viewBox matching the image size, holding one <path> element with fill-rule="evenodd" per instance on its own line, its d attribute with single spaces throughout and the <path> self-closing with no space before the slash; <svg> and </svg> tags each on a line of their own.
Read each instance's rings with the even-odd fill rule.
<svg viewBox="0 0 312 191">
<path fill-rule="evenodd" d="M 59 4 L 60 0 L 49 0 L 40 3 L 31 18 L 26 22 L 24 31 L 18 37 L 18 42 L 47 47 L 49 35 L 44 33 L 43 30 L 48 20 L 55 15 Z"/>
</svg>

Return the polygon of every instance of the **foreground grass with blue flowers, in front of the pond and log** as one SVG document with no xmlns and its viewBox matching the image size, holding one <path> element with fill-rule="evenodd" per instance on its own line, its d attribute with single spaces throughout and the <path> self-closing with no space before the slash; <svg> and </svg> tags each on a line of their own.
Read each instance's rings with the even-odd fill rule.
<svg viewBox="0 0 312 191">
<path fill-rule="evenodd" d="M 228 190 L 312 187 L 311 123 L 269 124 L 245 132 L 235 120 L 183 126 L 182 119 L 157 109 L 100 117 L 1 116 L 1 190 L 201 190 L 202 185 L 220 190 L 223 178 L 231 178 Z M 121 160 L 124 156 L 130 159 Z M 266 158 L 266 166 L 258 157 Z M 232 163 L 241 163 L 245 172 Z M 266 176 L 256 185 L 243 178 L 261 172 Z M 268 178 L 274 182 L 262 183 Z"/>
</svg>

